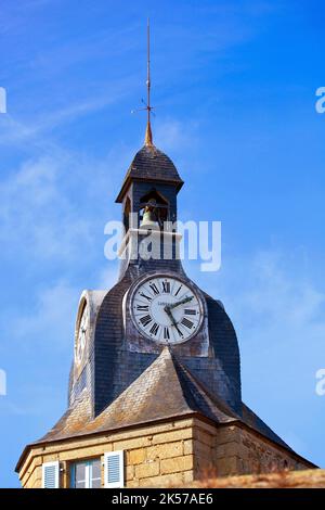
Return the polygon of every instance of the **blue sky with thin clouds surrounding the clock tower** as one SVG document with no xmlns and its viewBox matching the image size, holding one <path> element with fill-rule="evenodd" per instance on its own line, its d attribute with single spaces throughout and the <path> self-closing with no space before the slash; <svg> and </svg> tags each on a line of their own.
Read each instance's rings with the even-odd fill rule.
<svg viewBox="0 0 325 510">
<path fill-rule="evenodd" d="M 187 273 L 238 334 L 246 404 L 325 467 L 325 86 L 320 1 L 0 1 L 0 485 L 66 406 L 83 289 L 108 289 L 104 225 L 145 116 L 185 180 L 181 219 L 222 221 L 222 268 Z"/>
</svg>

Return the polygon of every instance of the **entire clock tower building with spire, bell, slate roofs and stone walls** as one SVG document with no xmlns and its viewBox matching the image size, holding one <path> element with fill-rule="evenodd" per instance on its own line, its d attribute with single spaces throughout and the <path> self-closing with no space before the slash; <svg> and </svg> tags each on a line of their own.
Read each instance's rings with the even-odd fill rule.
<svg viewBox="0 0 325 510">
<path fill-rule="evenodd" d="M 24 487 L 186 486 L 207 472 L 314 468 L 243 403 L 233 324 L 184 271 L 177 229 L 166 230 L 184 182 L 154 144 L 147 61 L 145 143 L 116 199 L 125 226 L 117 283 L 81 294 L 68 407 L 25 447 Z M 148 234 L 164 242 L 146 258 Z"/>
</svg>

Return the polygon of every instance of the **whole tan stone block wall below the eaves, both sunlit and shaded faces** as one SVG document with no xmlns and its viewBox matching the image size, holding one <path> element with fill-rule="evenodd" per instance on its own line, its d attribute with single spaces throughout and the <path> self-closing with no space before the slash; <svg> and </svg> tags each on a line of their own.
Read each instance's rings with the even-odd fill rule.
<svg viewBox="0 0 325 510">
<path fill-rule="evenodd" d="M 104 461 L 104 452 L 116 450 L 125 451 L 127 487 L 186 486 L 211 476 L 311 467 L 252 431 L 190 418 L 32 447 L 20 479 L 24 487 L 40 488 L 42 463 L 60 460 L 61 487 L 69 487 L 72 462 L 95 457 Z"/>
</svg>

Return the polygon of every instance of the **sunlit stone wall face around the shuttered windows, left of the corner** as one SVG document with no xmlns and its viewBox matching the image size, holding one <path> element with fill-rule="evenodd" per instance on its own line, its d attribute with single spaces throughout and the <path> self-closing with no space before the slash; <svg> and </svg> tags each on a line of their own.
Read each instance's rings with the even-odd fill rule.
<svg viewBox="0 0 325 510">
<path fill-rule="evenodd" d="M 26 488 L 40 488 L 42 463 L 60 460 L 61 487 L 69 487 L 69 463 L 95 457 L 104 461 L 105 452 L 123 450 L 127 487 L 182 485 L 194 480 L 193 435 L 193 419 L 187 419 L 109 435 L 49 443 L 32 447 L 20 470 L 20 479 Z"/>
</svg>

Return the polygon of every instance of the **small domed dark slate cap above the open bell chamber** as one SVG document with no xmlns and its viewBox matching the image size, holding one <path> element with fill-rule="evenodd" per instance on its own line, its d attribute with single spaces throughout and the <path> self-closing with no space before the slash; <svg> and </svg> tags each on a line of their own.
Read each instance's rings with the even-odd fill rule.
<svg viewBox="0 0 325 510">
<path fill-rule="evenodd" d="M 176 184 L 179 191 L 184 181 L 172 161 L 155 145 L 144 145 L 132 161 L 116 202 L 121 202 L 131 180 L 159 181 Z"/>
</svg>

